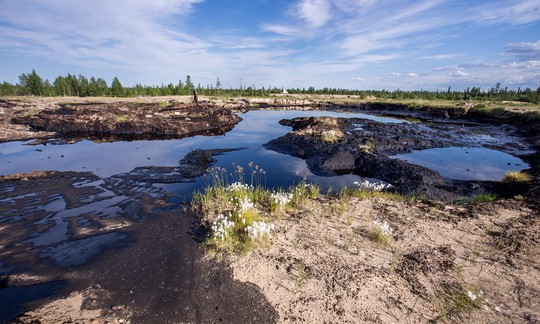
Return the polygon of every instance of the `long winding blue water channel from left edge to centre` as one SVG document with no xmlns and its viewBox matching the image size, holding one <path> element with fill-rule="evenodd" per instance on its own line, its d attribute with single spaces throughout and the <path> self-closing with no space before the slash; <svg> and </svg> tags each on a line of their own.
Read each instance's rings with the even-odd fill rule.
<svg viewBox="0 0 540 324">
<path fill-rule="evenodd" d="M 132 141 L 94 143 L 81 141 L 65 145 L 28 145 L 30 142 L 0 144 L 0 174 L 31 172 L 34 170 L 90 171 L 100 177 L 125 173 L 141 166 L 177 166 L 178 161 L 193 149 L 237 148 L 217 157 L 216 166 L 232 171 L 233 163 L 247 167 L 250 161 L 266 170 L 270 187 L 287 187 L 307 178 L 322 186 L 352 185 L 356 176 L 317 177 L 309 172 L 301 159 L 268 151 L 266 142 L 290 131 L 279 125 L 283 118 L 301 116 L 336 116 L 369 118 L 380 122 L 403 121 L 366 114 L 346 114 L 324 111 L 250 111 L 240 114 L 244 119 L 223 136 L 196 136 L 181 140 Z M 200 189 L 204 180 L 194 183 L 163 186 L 174 193 L 189 194 Z"/>
</svg>

